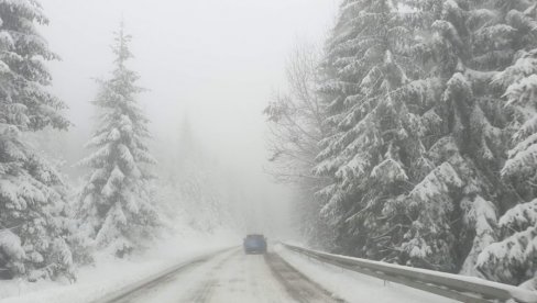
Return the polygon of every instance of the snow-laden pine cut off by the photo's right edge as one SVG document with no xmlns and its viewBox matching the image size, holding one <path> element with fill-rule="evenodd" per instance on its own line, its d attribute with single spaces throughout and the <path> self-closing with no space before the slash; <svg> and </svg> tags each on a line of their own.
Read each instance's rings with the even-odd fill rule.
<svg viewBox="0 0 537 303">
<path fill-rule="evenodd" d="M 487 246 L 476 263 L 486 278 L 513 284 L 537 272 L 537 3 L 518 8 L 507 16 L 526 49 L 493 85 L 505 91 L 506 105 L 514 110 L 512 149 L 502 177 L 518 193 L 519 204 L 501 216 L 501 242 Z"/>
</svg>

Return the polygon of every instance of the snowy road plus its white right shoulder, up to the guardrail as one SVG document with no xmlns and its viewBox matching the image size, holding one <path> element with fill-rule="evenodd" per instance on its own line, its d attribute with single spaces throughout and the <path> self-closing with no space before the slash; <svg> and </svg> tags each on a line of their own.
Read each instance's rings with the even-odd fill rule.
<svg viewBox="0 0 537 303">
<path fill-rule="evenodd" d="M 186 263 L 180 270 L 103 303 L 453 303 L 404 285 L 319 263 L 282 246 L 266 255 L 235 248 Z M 100 302 L 99 302 L 100 303 Z"/>
</svg>

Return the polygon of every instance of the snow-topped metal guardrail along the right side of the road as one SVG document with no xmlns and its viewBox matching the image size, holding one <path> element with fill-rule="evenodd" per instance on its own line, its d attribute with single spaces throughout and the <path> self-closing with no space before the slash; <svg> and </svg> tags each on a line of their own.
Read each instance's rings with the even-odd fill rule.
<svg viewBox="0 0 537 303">
<path fill-rule="evenodd" d="M 289 250 L 385 281 L 467 303 L 537 303 L 537 292 L 479 278 L 351 258 L 282 243 Z"/>
</svg>

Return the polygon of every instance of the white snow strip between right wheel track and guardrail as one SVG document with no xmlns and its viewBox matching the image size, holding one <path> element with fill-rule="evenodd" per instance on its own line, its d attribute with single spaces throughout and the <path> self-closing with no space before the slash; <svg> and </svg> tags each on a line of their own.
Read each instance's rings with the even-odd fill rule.
<svg viewBox="0 0 537 303">
<path fill-rule="evenodd" d="M 281 245 L 274 250 L 287 262 L 303 272 L 311 281 L 322 285 L 333 296 L 347 302 L 375 303 L 453 303 L 447 298 L 430 294 L 402 284 L 360 274 L 332 265 L 309 259 L 303 255 L 289 251 Z"/>
</svg>

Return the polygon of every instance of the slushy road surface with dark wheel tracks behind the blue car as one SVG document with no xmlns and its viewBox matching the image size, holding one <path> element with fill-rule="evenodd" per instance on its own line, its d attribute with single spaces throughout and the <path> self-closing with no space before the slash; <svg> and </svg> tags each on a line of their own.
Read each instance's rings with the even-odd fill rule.
<svg viewBox="0 0 537 303">
<path fill-rule="evenodd" d="M 114 303 L 342 302 L 332 299 L 274 252 L 241 249 L 186 266 Z"/>
</svg>

